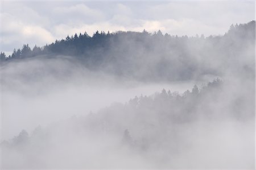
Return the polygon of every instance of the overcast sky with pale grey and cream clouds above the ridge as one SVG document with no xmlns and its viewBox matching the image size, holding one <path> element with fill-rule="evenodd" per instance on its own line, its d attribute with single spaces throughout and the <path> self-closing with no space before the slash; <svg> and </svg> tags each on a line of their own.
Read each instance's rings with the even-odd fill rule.
<svg viewBox="0 0 256 170">
<path fill-rule="evenodd" d="M 85 31 L 161 30 L 171 35 L 222 35 L 232 23 L 254 20 L 253 1 L 11 2 L 1 1 L 1 48 L 45 45 Z"/>
</svg>

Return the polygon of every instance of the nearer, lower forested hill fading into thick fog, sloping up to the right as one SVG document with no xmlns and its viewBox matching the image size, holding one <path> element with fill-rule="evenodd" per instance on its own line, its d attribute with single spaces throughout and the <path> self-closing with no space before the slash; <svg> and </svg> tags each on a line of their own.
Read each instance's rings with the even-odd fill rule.
<svg viewBox="0 0 256 170">
<path fill-rule="evenodd" d="M 93 169 L 103 167 L 99 166 L 101 163 L 110 169 L 117 163 L 113 160 L 122 157 L 130 161 L 139 156 L 146 157 L 143 159 L 146 161 L 144 167 L 161 160 L 160 165 L 164 168 L 181 168 L 184 163 L 176 163 L 175 159 L 180 153 L 185 153 L 183 159 L 186 157 L 186 160 L 201 163 L 202 157 L 191 154 L 192 147 L 196 147 L 197 153 L 213 161 L 214 165 L 222 154 L 220 148 L 226 151 L 228 147 L 236 157 L 242 154 L 254 158 L 254 152 L 241 149 L 245 142 L 246 147 L 254 146 L 254 130 L 251 130 L 254 124 L 250 123 L 250 120 L 254 122 L 254 93 L 247 91 L 249 95 L 241 96 L 241 91 L 233 92 L 233 96 L 227 98 L 231 88 L 225 83 L 216 79 L 201 89 L 194 86 L 182 95 L 163 89 L 161 93 L 135 97 L 125 104 L 114 103 L 97 113 L 74 115 L 47 127 L 39 126 L 31 133 L 22 130 L 13 139 L 1 143 L 2 152 L 6 155 L 3 166 L 34 168 L 34 163 L 38 163 L 40 168 L 48 168 L 59 163 L 73 163 L 76 168 L 83 165 L 86 169 Z M 241 126 L 238 120 L 245 124 Z M 252 128 L 245 128 L 245 125 Z M 202 136 L 207 136 L 207 139 Z M 216 159 L 205 156 L 210 151 L 216 154 Z M 114 158 L 109 159 L 112 152 Z M 92 153 L 99 154 L 96 157 Z M 34 161 L 29 161 L 31 155 Z M 65 155 L 72 156 L 63 161 Z M 22 161 L 7 161 L 11 156 L 22 157 Z M 82 159 L 77 161 L 77 156 Z M 234 159 L 229 154 L 224 157 L 225 160 Z M 123 166 L 127 164 L 133 165 L 121 162 Z"/>
</svg>

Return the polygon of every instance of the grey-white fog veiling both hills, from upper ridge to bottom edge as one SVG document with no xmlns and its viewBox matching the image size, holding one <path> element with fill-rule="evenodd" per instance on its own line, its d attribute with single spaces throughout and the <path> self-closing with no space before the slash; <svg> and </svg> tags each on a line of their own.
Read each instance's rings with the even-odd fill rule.
<svg viewBox="0 0 256 170">
<path fill-rule="evenodd" d="M 108 36 L 1 61 L 1 168 L 254 169 L 255 22 Z"/>
</svg>

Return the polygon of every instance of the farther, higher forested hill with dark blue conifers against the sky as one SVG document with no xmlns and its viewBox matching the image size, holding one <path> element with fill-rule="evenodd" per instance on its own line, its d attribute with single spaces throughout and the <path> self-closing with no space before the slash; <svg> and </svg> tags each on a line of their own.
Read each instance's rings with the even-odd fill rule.
<svg viewBox="0 0 256 170">
<path fill-rule="evenodd" d="M 255 21 L 232 25 L 225 35 L 207 38 L 163 35 L 161 31 L 96 31 L 93 36 L 75 34 L 44 47 L 23 45 L 9 57 L 1 52 L 0 58 L 3 63 L 34 56 L 72 56 L 86 68 L 118 76 L 188 80 L 204 74 L 221 76 L 223 69 L 254 71 L 254 39 Z M 246 58 L 242 63 L 241 57 Z"/>
</svg>

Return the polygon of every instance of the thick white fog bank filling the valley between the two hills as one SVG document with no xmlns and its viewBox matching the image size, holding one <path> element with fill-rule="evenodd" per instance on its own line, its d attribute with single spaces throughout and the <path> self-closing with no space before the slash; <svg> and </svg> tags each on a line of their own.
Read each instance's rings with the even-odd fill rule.
<svg viewBox="0 0 256 170">
<path fill-rule="evenodd" d="M 195 83 L 118 82 L 116 77 L 90 72 L 79 63 L 76 66 L 80 69 L 72 67 L 75 65 L 72 58 L 66 59 L 47 61 L 39 57 L 3 66 L 1 73 L 6 78 L 2 82 L 2 139 L 13 138 L 23 128 L 32 131 L 38 125 L 86 115 L 114 102 L 125 103 L 134 96 L 151 95 L 159 89 L 184 92 Z"/>
</svg>

